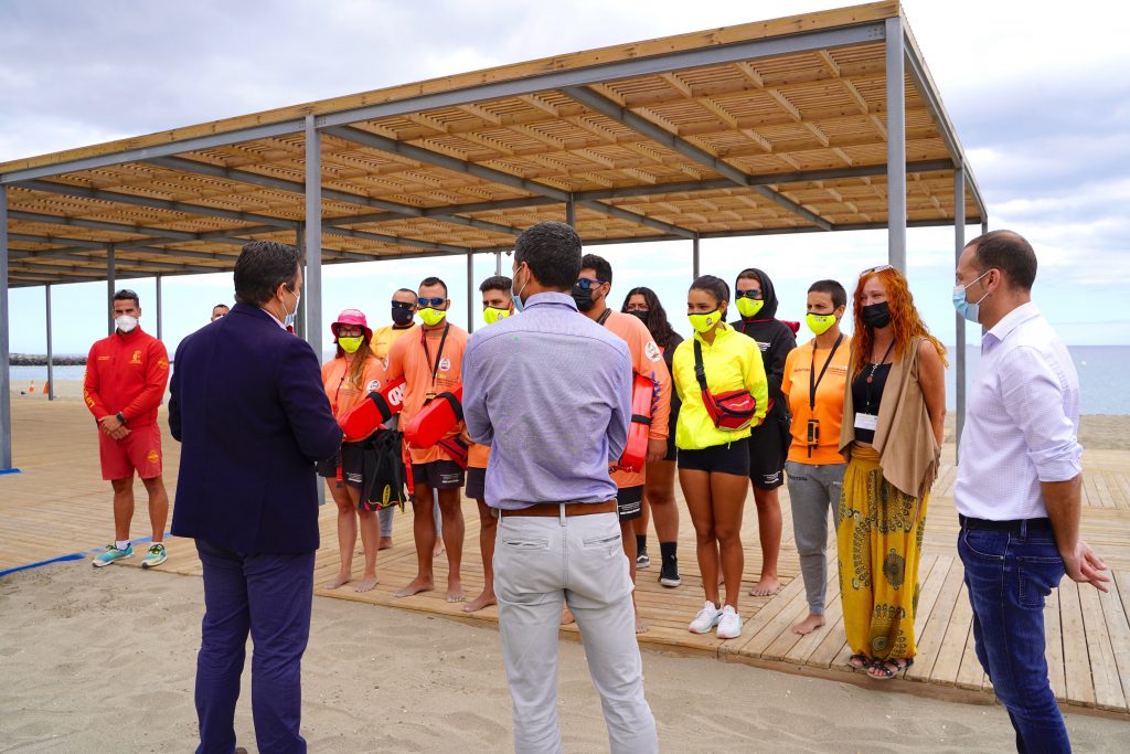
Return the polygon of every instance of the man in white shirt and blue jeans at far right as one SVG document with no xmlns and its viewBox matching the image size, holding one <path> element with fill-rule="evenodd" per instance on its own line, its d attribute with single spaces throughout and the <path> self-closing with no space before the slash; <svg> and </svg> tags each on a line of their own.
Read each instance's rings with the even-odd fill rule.
<svg viewBox="0 0 1130 754">
<path fill-rule="evenodd" d="M 1044 598 L 1064 572 L 1106 591 L 1079 537 L 1079 378 L 1032 303 L 1036 254 L 1011 231 L 968 243 L 954 306 L 980 322 L 954 502 L 977 659 L 1008 709 L 1019 752 L 1070 752 L 1048 682 Z"/>
</svg>

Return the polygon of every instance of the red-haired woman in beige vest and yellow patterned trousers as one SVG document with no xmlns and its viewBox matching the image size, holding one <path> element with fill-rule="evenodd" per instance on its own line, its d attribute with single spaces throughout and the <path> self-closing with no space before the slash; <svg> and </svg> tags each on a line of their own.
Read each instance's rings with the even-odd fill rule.
<svg viewBox="0 0 1130 754">
<path fill-rule="evenodd" d="M 914 664 L 919 560 L 946 416 L 946 348 L 906 278 L 863 270 L 844 391 L 836 531 L 849 664 L 888 679 Z"/>
</svg>

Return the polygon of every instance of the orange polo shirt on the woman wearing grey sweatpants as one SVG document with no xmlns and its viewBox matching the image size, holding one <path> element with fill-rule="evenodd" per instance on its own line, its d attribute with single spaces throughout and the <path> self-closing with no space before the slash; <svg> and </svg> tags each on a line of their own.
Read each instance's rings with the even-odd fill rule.
<svg viewBox="0 0 1130 754">
<path fill-rule="evenodd" d="M 789 397 L 789 411 L 792 414 L 792 444 L 789 445 L 789 460 L 797 463 L 825 466 L 843 463 L 840 454 L 840 425 L 844 417 L 844 384 L 847 381 L 847 357 L 851 355 L 851 338 L 846 335 L 840 341 L 824 378 L 816 385 L 816 409 L 809 409 L 809 374 L 812 369 L 812 348 L 816 339 L 789 352 L 784 359 L 784 376 L 781 380 L 781 392 Z M 825 362 L 828 361 L 831 348 L 816 349 L 816 374 L 820 375 Z M 808 454 L 808 419 L 820 423 L 820 439 L 812 454 Z"/>
</svg>

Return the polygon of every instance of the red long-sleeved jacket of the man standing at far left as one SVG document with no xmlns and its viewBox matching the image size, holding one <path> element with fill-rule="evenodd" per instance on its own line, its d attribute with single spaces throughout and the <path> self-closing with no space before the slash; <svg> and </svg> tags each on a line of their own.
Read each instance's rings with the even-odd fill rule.
<svg viewBox="0 0 1130 754">
<path fill-rule="evenodd" d="M 82 400 L 98 419 L 121 411 L 131 427 L 157 422 L 168 384 L 165 344 L 140 327 L 95 341 L 82 373 Z"/>
</svg>

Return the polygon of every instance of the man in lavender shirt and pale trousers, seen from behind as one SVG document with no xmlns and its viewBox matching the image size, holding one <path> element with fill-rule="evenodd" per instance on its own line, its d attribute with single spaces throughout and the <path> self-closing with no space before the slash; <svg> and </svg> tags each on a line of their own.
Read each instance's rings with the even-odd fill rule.
<svg viewBox="0 0 1130 754">
<path fill-rule="evenodd" d="M 659 751 L 643 693 L 632 580 L 608 465 L 627 443 L 632 362 L 624 340 L 577 317 L 568 291 L 581 239 L 539 223 L 514 248 L 520 315 L 463 354 L 463 417 L 490 445 L 486 501 L 498 515 L 495 593 L 518 752 L 560 752 L 557 631 L 576 616 L 614 754 Z"/>
</svg>

